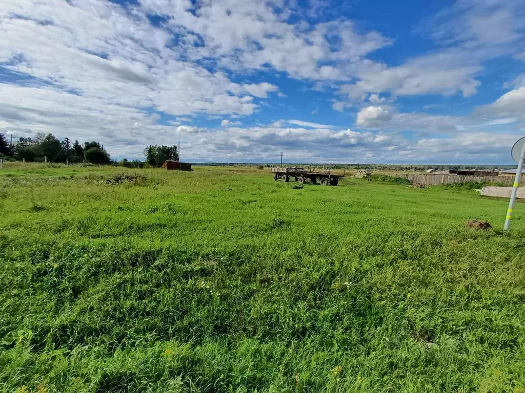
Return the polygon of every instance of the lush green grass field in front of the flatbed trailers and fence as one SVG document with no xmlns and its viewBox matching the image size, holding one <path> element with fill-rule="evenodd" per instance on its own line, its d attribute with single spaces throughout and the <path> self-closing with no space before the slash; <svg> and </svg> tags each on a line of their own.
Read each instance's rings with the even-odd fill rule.
<svg viewBox="0 0 525 393">
<path fill-rule="evenodd" d="M 1 389 L 525 392 L 525 204 L 293 186 L 0 170 Z"/>
</svg>

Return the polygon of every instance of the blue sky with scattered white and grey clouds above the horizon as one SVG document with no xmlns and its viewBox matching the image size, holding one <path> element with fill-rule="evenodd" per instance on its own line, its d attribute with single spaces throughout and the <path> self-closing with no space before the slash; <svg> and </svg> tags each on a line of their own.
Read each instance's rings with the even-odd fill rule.
<svg viewBox="0 0 525 393">
<path fill-rule="evenodd" d="M 0 132 L 192 161 L 511 163 L 522 0 L 3 0 Z"/>
</svg>

